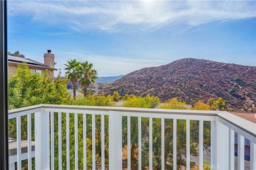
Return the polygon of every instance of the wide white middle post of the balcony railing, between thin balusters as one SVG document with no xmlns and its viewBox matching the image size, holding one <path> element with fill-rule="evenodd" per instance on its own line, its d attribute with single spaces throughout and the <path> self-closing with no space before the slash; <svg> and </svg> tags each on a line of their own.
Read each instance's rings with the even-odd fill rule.
<svg viewBox="0 0 256 170">
<path fill-rule="evenodd" d="M 109 169 L 122 169 L 122 116 L 109 111 Z"/>
</svg>

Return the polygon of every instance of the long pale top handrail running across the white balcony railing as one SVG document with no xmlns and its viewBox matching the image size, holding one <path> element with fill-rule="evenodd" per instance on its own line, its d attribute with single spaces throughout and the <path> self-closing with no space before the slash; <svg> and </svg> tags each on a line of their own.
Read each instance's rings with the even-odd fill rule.
<svg viewBox="0 0 256 170">
<path fill-rule="evenodd" d="M 173 115 L 197 115 L 197 116 L 218 116 L 221 118 L 221 123 L 227 125 L 233 130 L 240 129 L 242 135 L 250 136 L 256 143 L 256 124 L 250 121 L 244 120 L 241 117 L 230 114 L 223 111 L 195 111 L 195 110 L 179 110 L 179 109 L 156 109 L 156 108 L 130 108 L 130 107 L 106 107 L 106 106 L 73 106 L 73 105 L 49 105 L 41 104 L 29 107 L 23 107 L 18 109 L 12 109 L 9 111 L 9 119 L 17 116 L 23 116 L 35 112 L 39 112 L 41 108 L 44 108 L 46 112 L 70 112 L 74 110 L 76 113 L 88 113 L 90 114 L 101 114 L 108 115 L 109 111 L 117 111 L 128 114 L 136 113 L 135 116 L 141 116 L 139 114 L 150 113 L 150 114 L 173 114 Z M 100 113 L 97 111 L 101 111 Z M 150 116 L 151 117 L 151 116 Z M 179 119 L 182 119 L 180 117 Z M 198 120 L 198 119 L 196 119 Z"/>
</svg>

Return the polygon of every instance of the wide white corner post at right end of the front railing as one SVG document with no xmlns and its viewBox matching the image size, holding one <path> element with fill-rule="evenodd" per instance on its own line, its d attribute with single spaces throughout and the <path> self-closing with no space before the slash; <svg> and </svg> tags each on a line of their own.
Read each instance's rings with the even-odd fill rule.
<svg viewBox="0 0 256 170">
<path fill-rule="evenodd" d="M 211 169 L 229 169 L 229 128 L 219 117 L 211 122 Z"/>
</svg>

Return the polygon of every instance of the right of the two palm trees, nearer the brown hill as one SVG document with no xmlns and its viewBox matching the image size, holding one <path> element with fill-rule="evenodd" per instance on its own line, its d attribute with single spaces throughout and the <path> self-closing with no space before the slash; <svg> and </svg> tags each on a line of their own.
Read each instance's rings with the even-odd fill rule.
<svg viewBox="0 0 256 170">
<path fill-rule="evenodd" d="M 81 79 L 79 80 L 79 84 L 83 87 L 84 96 L 87 95 L 87 88 L 90 84 L 95 83 L 95 80 L 98 79 L 98 73 L 92 67 L 93 64 L 89 64 L 87 61 L 81 63 Z"/>
</svg>

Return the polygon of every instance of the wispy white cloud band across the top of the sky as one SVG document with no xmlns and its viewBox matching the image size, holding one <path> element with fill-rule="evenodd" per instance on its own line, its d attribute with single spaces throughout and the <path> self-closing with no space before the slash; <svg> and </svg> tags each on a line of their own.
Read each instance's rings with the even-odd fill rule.
<svg viewBox="0 0 256 170">
<path fill-rule="evenodd" d="M 255 1 L 10 1 L 9 15 L 84 32 L 187 30 L 213 21 L 255 17 Z M 177 27 L 181 25 L 181 27 Z"/>
</svg>

